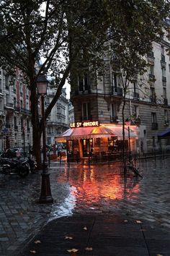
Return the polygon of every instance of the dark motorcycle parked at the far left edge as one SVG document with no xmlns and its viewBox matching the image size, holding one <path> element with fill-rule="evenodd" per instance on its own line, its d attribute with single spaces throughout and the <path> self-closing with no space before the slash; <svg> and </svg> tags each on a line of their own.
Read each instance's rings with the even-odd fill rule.
<svg viewBox="0 0 170 256">
<path fill-rule="evenodd" d="M 18 174 L 25 177 L 29 174 L 27 160 L 0 158 L 0 174 Z"/>
</svg>

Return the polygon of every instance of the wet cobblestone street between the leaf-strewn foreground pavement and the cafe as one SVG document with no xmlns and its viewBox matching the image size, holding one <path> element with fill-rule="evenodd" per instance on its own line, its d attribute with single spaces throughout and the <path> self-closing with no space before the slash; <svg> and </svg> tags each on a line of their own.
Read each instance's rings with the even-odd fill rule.
<svg viewBox="0 0 170 256">
<path fill-rule="evenodd" d="M 170 161 L 138 163 L 143 179 L 121 175 L 120 163 L 82 166 L 51 163 L 53 205 L 40 205 L 40 174 L 0 177 L 0 255 L 14 255 L 53 218 L 118 214 L 170 229 Z"/>
</svg>

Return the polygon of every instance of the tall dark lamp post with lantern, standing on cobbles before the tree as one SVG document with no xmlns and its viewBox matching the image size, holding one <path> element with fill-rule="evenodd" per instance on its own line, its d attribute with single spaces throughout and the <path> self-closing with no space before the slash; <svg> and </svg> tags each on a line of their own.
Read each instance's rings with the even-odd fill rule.
<svg viewBox="0 0 170 256">
<path fill-rule="evenodd" d="M 45 75 L 37 77 L 37 93 L 41 95 L 42 107 L 42 145 L 43 145 L 43 161 L 42 161 L 42 182 L 40 203 L 53 203 L 53 197 L 50 191 L 50 174 L 48 173 L 48 163 L 46 154 L 46 136 L 45 136 L 45 111 L 44 111 L 44 98 L 47 94 L 48 80 Z"/>
</svg>

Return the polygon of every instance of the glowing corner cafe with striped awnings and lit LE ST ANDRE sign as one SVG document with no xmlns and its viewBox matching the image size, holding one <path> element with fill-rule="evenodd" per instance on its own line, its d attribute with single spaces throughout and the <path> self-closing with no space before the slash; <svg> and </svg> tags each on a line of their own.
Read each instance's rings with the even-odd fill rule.
<svg viewBox="0 0 170 256">
<path fill-rule="evenodd" d="M 73 123 L 66 132 L 55 137 L 56 142 L 65 141 L 70 160 L 78 158 L 116 157 L 122 153 L 122 125 L 99 124 L 98 121 Z M 138 127 L 125 126 L 125 149 L 135 151 Z"/>
</svg>

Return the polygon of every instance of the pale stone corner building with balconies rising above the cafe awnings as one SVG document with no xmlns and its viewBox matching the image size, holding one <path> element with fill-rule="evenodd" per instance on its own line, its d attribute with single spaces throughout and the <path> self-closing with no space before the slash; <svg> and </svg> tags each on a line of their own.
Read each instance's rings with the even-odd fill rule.
<svg viewBox="0 0 170 256">
<path fill-rule="evenodd" d="M 126 95 L 125 119 L 138 127 L 137 150 L 147 152 L 166 148 L 170 140 L 161 140 L 161 132 L 169 128 L 170 59 L 166 51 L 170 41 L 164 35 L 153 43 L 146 57 L 148 72 L 130 83 Z M 105 58 L 103 77 L 91 80 L 86 74 L 71 85 L 71 102 L 75 121 L 97 120 L 105 124 L 122 124 L 123 90 L 119 74 L 113 72 L 110 59 Z M 141 85 L 142 84 L 142 85 Z"/>
</svg>

